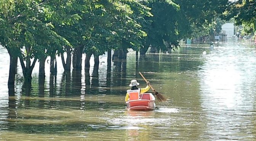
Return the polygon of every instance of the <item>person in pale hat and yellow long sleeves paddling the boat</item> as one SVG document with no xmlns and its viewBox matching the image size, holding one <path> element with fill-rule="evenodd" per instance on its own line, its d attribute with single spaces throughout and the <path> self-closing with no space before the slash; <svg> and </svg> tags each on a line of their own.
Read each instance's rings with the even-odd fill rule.
<svg viewBox="0 0 256 141">
<path fill-rule="evenodd" d="M 129 85 L 131 87 L 131 89 L 127 90 L 127 93 L 126 93 L 126 96 L 125 96 L 125 101 L 129 100 L 129 91 L 131 91 L 131 90 L 139 90 L 140 94 L 143 94 L 143 93 L 149 91 L 149 89 L 150 89 L 149 85 L 150 85 L 150 82 L 147 81 L 146 88 L 138 88 L 139 83 L 137 82 L 137 80 L 131 80 L 131 83 Z"/>
</svg>

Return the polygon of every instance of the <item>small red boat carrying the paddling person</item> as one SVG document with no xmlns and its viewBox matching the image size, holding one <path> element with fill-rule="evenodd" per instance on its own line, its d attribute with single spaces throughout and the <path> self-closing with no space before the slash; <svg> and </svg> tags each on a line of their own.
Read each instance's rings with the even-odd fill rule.
<svg viewBox="0 0 256 141">
<path fill-rule="evenodd" d="M 126 101 L 127 109 L 134 111 L 150 111 L 155 108 L 155 97 L 152 93 L 139 94 L 130 92 L 129 100 Z"/>
</svg>

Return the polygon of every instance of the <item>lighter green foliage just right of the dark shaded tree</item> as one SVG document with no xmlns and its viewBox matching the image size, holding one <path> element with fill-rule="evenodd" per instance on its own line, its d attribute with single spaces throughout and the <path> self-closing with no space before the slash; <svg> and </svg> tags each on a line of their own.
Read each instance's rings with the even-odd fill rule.
<svg viewBox="0 0 256 141">
<path fill-rule="evenodd" d="M 221 31 L 223 21 L 220 17 L 229 6 L 228 0 L 181 0 L 178 3 L 183 6 L 181 11 L 189 23 L 187 37 L 205 36 Z"/>
</svg>

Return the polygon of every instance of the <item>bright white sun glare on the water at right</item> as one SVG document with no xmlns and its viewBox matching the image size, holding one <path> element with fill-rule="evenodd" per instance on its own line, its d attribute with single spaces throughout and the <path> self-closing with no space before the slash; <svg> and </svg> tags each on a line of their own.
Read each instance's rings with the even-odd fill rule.
<svg viewBox="0 0 256 141">
<path fill-rule="evenodd" d="M 216 50 L 202 66 L 201 105 L 212 139 L 248 140 L 255 136 L 254 56 L 252 48 L 233 44 Z"/>
</svg>

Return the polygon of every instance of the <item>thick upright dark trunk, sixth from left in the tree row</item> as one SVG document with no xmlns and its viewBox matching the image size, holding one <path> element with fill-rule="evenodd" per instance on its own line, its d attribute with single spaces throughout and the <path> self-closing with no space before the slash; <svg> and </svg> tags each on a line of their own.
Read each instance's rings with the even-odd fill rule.
<svg viewBox="0 0 256 141">
<path fill-rule="evenodd" d="M 82 69 L 83 47 L 76 47 L 73 53 L 73 68 Z M 71 60 L 71 58 L 70 58 Z"/>
</svg>

